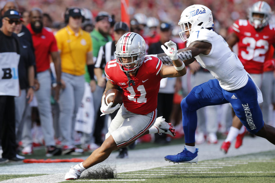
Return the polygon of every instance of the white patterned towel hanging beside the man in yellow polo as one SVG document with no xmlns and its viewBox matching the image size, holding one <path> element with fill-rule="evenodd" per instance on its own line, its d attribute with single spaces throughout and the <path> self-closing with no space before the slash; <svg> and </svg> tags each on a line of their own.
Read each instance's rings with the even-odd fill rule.
<svg viewBox="0 0 275 183">
<path fill-rule="evenodd" d="M 81 101 L 81 106 L 78 108 L 76 114 L 75 131 L 84 132 L 87 134 L 92 133 L 92 127 L 94 126 L 94 102 L 93 94 L 89 83 L 85 82 L 84 96 Z"/>
</svg>

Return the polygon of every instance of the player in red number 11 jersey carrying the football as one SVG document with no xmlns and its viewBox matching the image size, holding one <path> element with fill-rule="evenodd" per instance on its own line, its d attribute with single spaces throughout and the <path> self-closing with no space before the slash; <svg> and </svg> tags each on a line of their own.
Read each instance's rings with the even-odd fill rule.
<svg viewBox="0 0 275 183">
<path fill-rule="evenodd" d="M 105 141 L 84 162 L 70 168 L 65 180 L 77 179 L 82 171 L 109 157 L 112 151 L 128 146 L 138 137 L 152 133 L 167 133 L 175 136 L 171 124 L 162 117 L 156 118 L 157 96 L 160 80 L 164 77 L 180 77 L 186 67 L 177 55 L 176 43 L 166 42 L 162 49 L 170 57 L 173 66 L 164 65 L 159 58 L 145 55 L 145 41 L 137 33 L 125 33 L 117 42 L 115 55 L 105 66 L 108 78 L 101 102 L 102 115 L 120 108 L 112 120 Z M 120 86 L 123 89 L 123 104 L 115 107 L 105 104 L 105 93 Z"/>
</svg>

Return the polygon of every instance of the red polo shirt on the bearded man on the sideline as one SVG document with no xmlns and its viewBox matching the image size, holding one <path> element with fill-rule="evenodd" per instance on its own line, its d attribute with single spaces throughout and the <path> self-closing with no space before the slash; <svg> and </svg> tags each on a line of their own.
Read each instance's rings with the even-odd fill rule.
<svg viewBox="0 0 275 183">
<path fill-rule="evenodd" d="M 35 33 L 32 30 L 31 24 L 28 24 L 27 28 L 32 34 L 36 71 L 45 71 L 50 68 L 50 53 L 58 51 L 56 39 L 53 33 L 47 31 L 44 27 L 41 33 Z"/>
</svg>

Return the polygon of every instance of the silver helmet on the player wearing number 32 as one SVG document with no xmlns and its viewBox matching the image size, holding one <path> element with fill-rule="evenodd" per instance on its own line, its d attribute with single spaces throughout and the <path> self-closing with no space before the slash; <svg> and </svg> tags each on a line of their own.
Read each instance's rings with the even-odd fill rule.
<svg viewBox="0 0 275 183">
<path fill-rule="evenodd" d="M 263 14 L 263 18 L 253 17 L 253 13 Z M 272 14 L 271 8 L 268 3 L 264 1 L 258 1 L 249 8 L 248 19 L 251 25 L 255 27 L 255 29 L 259 29 L 265 27 L 268 24 L 270 16 Z"/>
</svg>

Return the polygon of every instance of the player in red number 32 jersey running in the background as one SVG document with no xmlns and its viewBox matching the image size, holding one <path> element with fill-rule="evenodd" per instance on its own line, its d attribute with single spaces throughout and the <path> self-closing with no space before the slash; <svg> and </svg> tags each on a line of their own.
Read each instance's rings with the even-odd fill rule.
<svg viewBox="0 0 275 183">
<path fill-rule="evenodd" d="M 271 13 L 268 3 L 256 2 L 249 9 L 249 19 L 235 21 L 232 26 L 233 32 L 227 38 L 227 43 L 231 49 L 237 43 L 238 57 L 244 69 L 251 75 L 259 88 L 262 85 L 264 62 L 268 60 L 270 45 L 275 45 L 275 25 L 268 23 Z M 263 120 L 268 122 L 268 115 L 264 112 Z M 231 142 L 236 137 L 235 148 L 239 148 L 245 133 L 245 128 L 241 127 L 241 121 L 237 116 L 234 116 L 227 138 L 221 146 L 222 151 L 227 153 Z"/>
</svg>

